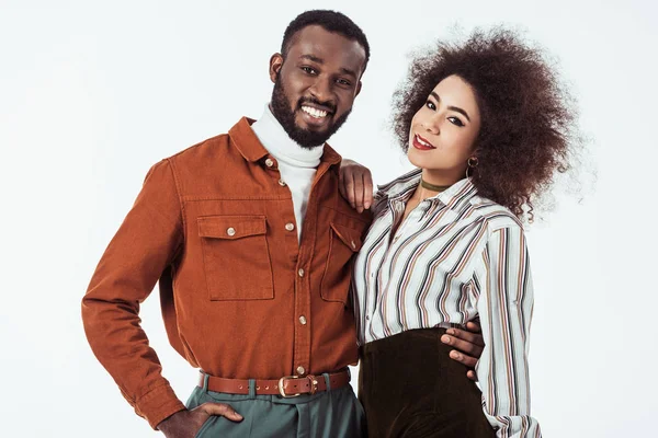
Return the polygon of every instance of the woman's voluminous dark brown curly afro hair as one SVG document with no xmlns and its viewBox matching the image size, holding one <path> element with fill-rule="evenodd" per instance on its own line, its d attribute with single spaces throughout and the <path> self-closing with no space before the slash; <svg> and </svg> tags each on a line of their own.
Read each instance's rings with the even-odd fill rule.
<svg viewBox="0 0 658 438">
<path fill-rule="evenodd" d="M 475 31 L 464 43 L 438 43 L 413 59 L 394 94 L 393 127 L 405 152 L 413 115 L 443 79 L 468 82 L 481 114 L 472 172 L 480 196 L 533 220 L 533 200 L 570 169 L 578 143 L 575 104 L 538 48 L 502 27 Z"/>
</svg>

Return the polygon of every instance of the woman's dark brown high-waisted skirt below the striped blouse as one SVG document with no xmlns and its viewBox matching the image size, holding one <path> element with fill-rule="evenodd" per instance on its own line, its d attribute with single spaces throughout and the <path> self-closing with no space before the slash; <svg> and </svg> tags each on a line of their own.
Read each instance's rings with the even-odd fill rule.
<svg viewBox="0 0 658 438">
<path fill-rule="evenodd" d="M 441 342 L 444 333 L 410 330 L 361 348 L 359 399 L 368 437 L 496 437 L 479 389 Z"/>
</svg>

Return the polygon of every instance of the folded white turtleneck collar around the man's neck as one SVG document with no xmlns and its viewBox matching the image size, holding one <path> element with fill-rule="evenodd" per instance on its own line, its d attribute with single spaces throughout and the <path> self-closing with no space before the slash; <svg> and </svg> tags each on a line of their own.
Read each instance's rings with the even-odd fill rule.
<svg viewBox="0 0 658 438">
<path fill-rule="evenodd" d="M 270 105 L 265 105 L 263 115 L 251 125 L 259 141 L 279 161 L 295 168 L 317 168 L 320 164 L 324 148 L 303 148 L 293 140 L 279 123 Z"/>
</svg>

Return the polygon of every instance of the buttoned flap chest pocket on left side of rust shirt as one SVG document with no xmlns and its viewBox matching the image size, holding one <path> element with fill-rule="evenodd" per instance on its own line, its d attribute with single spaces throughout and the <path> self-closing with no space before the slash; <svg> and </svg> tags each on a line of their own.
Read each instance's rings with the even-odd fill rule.
<svg viewBox="0 0 658 438">
<path fill-rule="evenodd" d="M 264 216 L 197 218 L 211 300 L 274 298 Z"/>
</svg>

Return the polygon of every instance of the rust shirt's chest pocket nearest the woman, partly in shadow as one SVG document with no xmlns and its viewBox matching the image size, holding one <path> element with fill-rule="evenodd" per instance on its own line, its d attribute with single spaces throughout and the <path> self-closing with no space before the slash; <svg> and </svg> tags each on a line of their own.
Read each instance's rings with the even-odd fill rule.
<svg viewBox="0 0 658 438">
<path fill-rule="evenodd" d="M 361 250 L 361 232 L 334 222 L 330 224 L 329 256 L 320 284 L 326 301 L 347 304 L 352 276 L 352 256 Z"/>
</svg>

